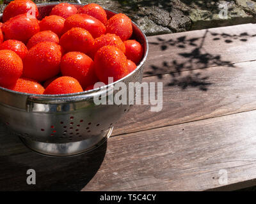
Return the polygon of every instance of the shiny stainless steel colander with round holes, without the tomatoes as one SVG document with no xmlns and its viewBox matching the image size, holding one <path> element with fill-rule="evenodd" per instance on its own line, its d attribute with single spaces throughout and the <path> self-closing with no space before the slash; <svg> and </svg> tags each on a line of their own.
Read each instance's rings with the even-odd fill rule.
<svg viewBox="0 0 256 204">
<path fill-rule="evenodd" d="M 39 18 L 49 15 L 58 3 L 37 4 Z M 83 4 L 75 4 L 77 7 Z M 106 10 L 108 17 L 115 12 Z M 0 16 L 1 18 L 1 16 Z M 145 50 L 140 65 L 132 73 L 91 91 L 62 95 L 35 95 L 0 87 L 0 121 L 29 148 L 47 156 L 74 156 L 95 149 L 111 135 L 114 124 L 131 108 L 127 105 L 95 105 L 94 97 L 106 97 L 113 85 L 141 82 L 148 53 L 145 34 L 133 23 L 132 38 Z M 106 89 L 109 88 L 109 89 Z M 128 101 L 129 102 L 129 101 Z"/>
</svg>

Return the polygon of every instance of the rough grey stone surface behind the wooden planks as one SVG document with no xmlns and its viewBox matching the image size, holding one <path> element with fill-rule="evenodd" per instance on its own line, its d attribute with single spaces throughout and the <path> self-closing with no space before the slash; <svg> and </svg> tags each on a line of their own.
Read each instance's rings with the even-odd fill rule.
<svg viewBox="0 0 256 204">
<path fill-rule="evenodd" d="M 47 1 L 50 0 L 35 0 L 36 3 Z M 256 22 L 256 0 L 81 1 L 82 3 L 98 3 L 104 8 L 129 15 L 148 36 Z M 219 15 L 220 7 L 224 10 L 227 8 L 221 12 L 221 15 Z M 227 15 L 224 16 L 224 14 Z"/>
</svg>

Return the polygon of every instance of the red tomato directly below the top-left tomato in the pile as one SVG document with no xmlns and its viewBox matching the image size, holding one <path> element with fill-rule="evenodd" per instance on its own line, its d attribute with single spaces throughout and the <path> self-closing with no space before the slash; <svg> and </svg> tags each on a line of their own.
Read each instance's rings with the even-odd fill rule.
<svg viewBox="0 0 256 204">
<path fill-rule="evenodd" d="M 6 40 L 19 40 L 26 43 L 31 36 L 40 31 L 38 21 L 35 17 L 26 14 L 17 15 L 3 25 Z"/>
</svg>

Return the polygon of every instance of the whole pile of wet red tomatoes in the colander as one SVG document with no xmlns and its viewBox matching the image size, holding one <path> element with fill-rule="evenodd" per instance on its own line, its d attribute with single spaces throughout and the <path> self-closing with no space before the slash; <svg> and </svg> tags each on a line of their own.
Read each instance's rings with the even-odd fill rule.
<svg viewBox="0 0 256 204">
<path fill-rule="evenodd" d="M 70 94 L 125 77 L 141 61 L 132 22 L 98 4 L 60 3 L 38 20 L 33 1 L 12 1 L 0 23 L 0 86 L 30 94 Z"/>
</svg>

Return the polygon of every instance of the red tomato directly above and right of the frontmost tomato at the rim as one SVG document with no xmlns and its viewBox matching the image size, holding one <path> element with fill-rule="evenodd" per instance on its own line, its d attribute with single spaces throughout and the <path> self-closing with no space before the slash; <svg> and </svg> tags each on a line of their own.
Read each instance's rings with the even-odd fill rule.
<svg viewBox="0 0 256 204">
<path fill-rule="evenodd" d="M 92 59 L 82 52 L 65 54 L 60 67 L 63 76 L 76 78 L 83 88 L 98 81 Z"/>
</svg>

